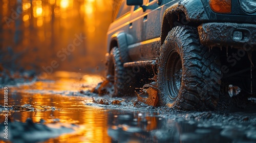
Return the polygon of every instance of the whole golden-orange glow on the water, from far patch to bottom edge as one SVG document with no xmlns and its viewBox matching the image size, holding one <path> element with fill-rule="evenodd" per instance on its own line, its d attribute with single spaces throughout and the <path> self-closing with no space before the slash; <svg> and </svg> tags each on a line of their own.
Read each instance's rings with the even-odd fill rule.
<svg viewBox="0 0 256 143">
<path fill-rule="evenodd" d="M 88 78 L 83 80 L 77 79 L 79 74 L 67 74 L 65 72 L 57 74 L 61 78 L 59 77 L 57 80 L 55 78 L 55 81 L 37 81 L 33 85 L 11 88 L 8 101 L 9 105 L 30 104 L 33 107 L 50 106 L 55 107 L 56 110 L 40 112 L 18 111 L 12 113 L 12 118 L 21 122 L 26 122 L 27 118 L 32 118 L 33 122 L 39 122 L 41 119 L 44 119 L 47 123 L 58 119 L 62 123 L 74 123 L 81 126 L 75 135 L 61 135 L 46 142 L 110 142 L 110 137 L 107 135 L 108 120 L 105 117 L 106 111 L 97 107 L 84 106 L 83 104 L 84 100 L 90 101 L 90 97 L 68 97 L 53 94 L 59 91 L 78 91 L 81 89 L 82 83 L 91 86 L 91 81 L 88 81 Z M 75 78 L 63 77 L 65 74 L 73 75 L 72 77 Z M 93 77 L 96 79 L 95 81 L 97 81 L 97 78 L 101 78 L 97 75 L 92 75 L 91 78 Z M 33 92 L 30 93 L 31 91 Z M 2 97 L 0 101 L 3 101 Z M 1 116 L 1 122 L 2 120 L 3 116 Z"/>
</svg>

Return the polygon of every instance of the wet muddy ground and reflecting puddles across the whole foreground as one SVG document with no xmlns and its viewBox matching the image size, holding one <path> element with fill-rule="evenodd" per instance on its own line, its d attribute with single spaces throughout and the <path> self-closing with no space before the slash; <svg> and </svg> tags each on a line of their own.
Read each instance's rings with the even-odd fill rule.
<svg viewBox="0 0 256 143">
<path fill-rule="evenodd" d="M 255 110 L 181 112 L 143 103 L 135 105 L 136 98 L 99 97 L 87 91 L 101 80 L 97 75 L 59 72 L 49 80 L 7 85 L 9 140 L 256 142 Z M 0 101 L 4 105 L 3 96 Z M 99 101 L 104 102 L 97 104 Z M 0 110 L 0 138 L 6 142 L 3 135 L 5 112 L 3 107 Z"/>
</svg>

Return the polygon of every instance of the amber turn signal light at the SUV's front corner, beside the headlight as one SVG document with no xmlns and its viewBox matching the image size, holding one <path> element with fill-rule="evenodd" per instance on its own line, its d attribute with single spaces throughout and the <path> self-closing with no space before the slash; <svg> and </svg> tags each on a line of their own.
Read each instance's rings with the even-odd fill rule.
<svg viewBox="0 0 256 143">
<path fill-rule="evenodd" d="M 210 0 L 209 5 L 211 10 L 217 13 L 231 12 L 231 0 Z"/>
</svg>

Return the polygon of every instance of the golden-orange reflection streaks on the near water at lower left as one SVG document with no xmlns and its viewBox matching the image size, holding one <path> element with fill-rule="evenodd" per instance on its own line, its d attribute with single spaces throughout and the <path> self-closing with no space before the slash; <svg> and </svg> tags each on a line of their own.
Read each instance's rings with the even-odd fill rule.
<svg viewBox="0 0 256 143">
<path fill-rule="evenodd" d="M 40 119 L 46 120 L 47 123 L 56 121 L 61 123 L 75 123 L 82 127 L 79 128 L 75 135 L 62 135 L 56 139 L 50 139 L 46 142 L 110 142 L 107 135 L 107 121 L 105 119 L 105 111 L 98 108 L 84 106 L 83 98 L 65 97 L 57 95 L 41 95 L 41 94 L 22 94 L 14 93 L 10 96 L 10 102 L 16 104 L 30 104 L 33 106 L 53 106 L 55 111 L 43 112 L 14 112 L 12 117 L 21 122 L 25 122 L 27 118 L 32 118 L 33 122 L 39 122 Z M 58 110 L 60 109 L 60 110 Z"/>
</svg>

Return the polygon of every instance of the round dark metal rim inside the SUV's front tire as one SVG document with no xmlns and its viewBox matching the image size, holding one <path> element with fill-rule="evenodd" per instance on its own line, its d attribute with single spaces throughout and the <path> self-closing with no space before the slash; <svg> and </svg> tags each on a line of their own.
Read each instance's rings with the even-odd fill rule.
<svg viewBox="0 0 256 143">
<path fill-rule="evenodd" d="M 182 80 L 182 62 L 176 50 L 170 52 L 165 66 L 165 92 L 169 98 L 175 100 L 178 97 Z"/>
</svg>

